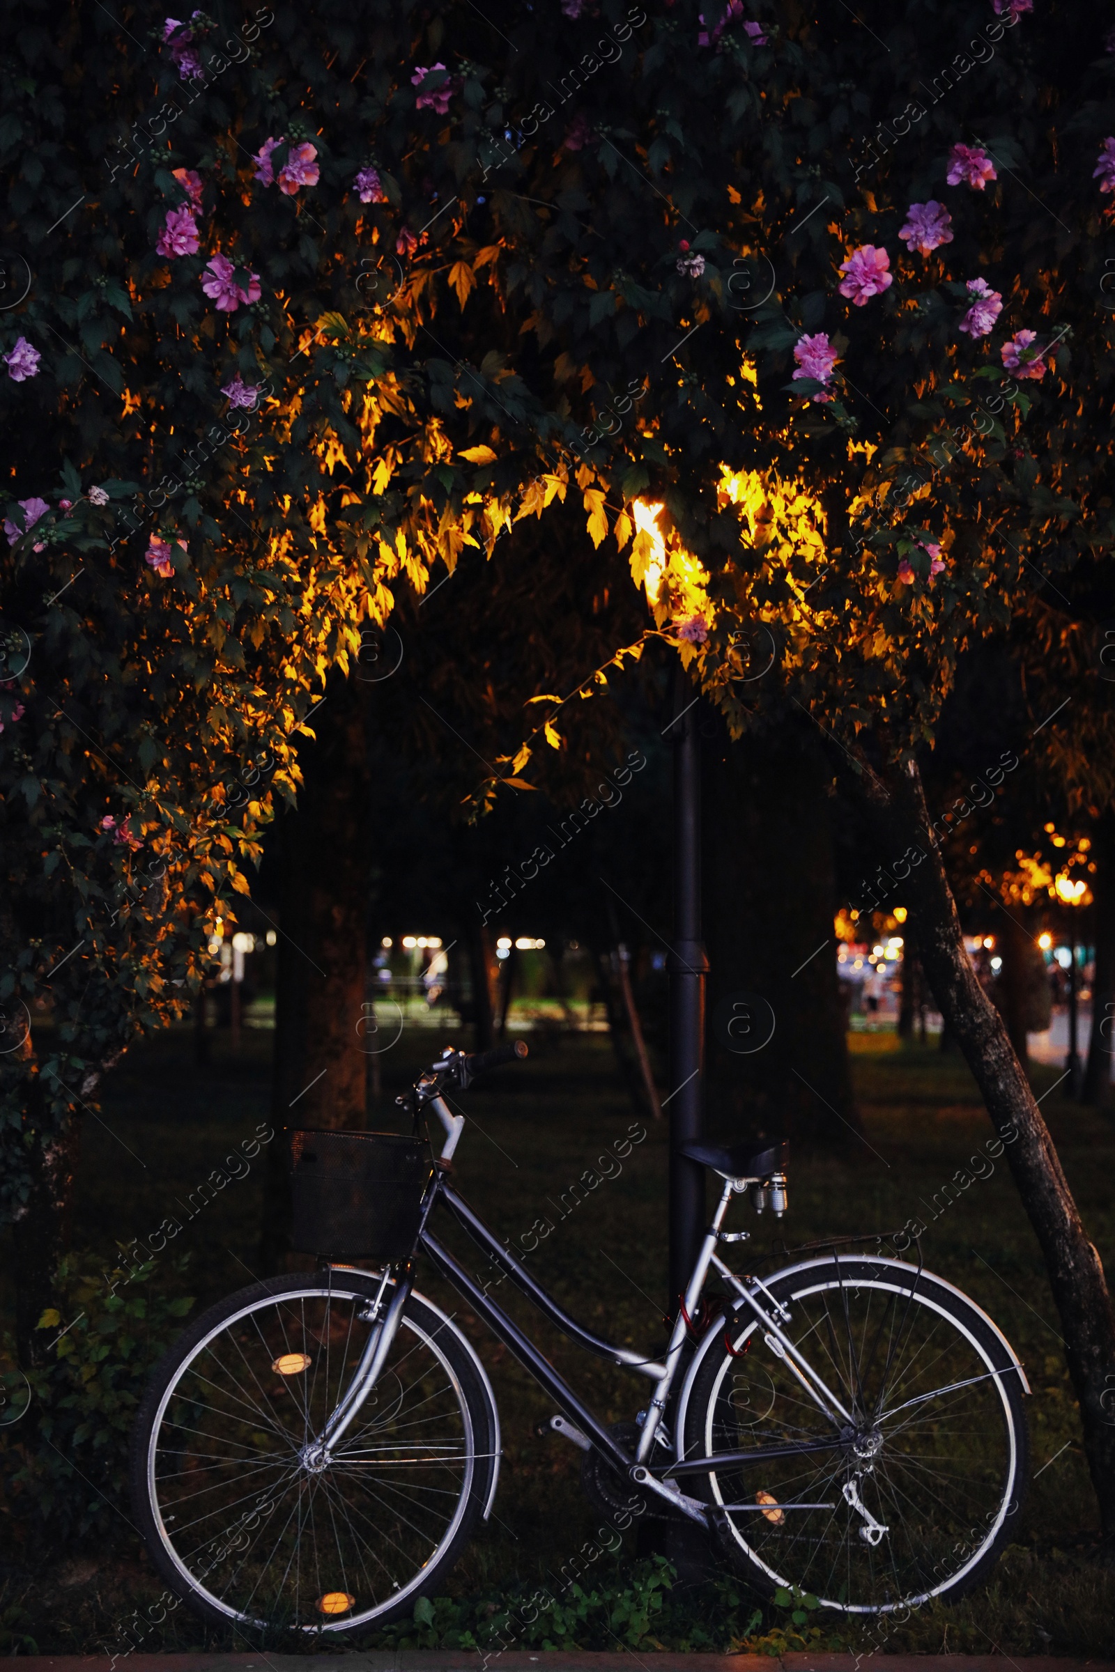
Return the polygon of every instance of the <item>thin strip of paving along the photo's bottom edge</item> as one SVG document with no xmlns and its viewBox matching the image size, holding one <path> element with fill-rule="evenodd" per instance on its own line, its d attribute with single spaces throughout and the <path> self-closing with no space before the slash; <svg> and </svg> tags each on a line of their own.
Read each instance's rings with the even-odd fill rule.
<svg viewBox="0 0 1115 1672">
<path fill-rule="evenodd" d="M 20 1655 L 20 1672 L 110 1672 L 107 1655 Z M 120 1655 L 119 1672 L 1115 1672 L 1115 1660 L 1056 1655 L 672 1655 L 530 1654 L 491 1655 L 456 1650 L 333 1655 Z"/>
</svg>

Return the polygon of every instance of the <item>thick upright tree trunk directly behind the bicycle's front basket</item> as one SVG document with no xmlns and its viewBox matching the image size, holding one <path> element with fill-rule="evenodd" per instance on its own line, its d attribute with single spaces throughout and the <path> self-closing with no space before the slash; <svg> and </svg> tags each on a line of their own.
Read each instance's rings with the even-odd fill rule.
<svg viewBox="0 0 1115 1672">
<path fill-rule="evenodd" d="M 279 940 L 261 1262 L 289 1249 L 291 1127 L 358 1129 L 366 1120 L 368 761 L 364 697 L 336 681 L 314 714 L 316 744 L 299 749 L 298 809 L 276 824 Z"/>
</svg>

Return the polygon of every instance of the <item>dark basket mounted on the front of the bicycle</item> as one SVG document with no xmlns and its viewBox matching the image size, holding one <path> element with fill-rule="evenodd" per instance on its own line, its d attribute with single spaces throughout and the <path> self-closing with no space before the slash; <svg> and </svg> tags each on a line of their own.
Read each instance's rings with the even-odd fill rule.
<svg viewBox="0 0 1115 1672">
<path fill-rule="evenodd" d="M 395 1132 L 291 1132 L 293 1244 L 326 1259 L 406 1259 L 430 1154 Z"/>
</svg>

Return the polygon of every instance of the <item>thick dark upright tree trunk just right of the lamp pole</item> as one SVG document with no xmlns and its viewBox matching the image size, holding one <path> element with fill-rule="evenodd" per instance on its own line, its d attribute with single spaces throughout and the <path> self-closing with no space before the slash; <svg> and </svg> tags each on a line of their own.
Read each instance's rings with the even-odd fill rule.
<svg viewBox="0 0 1115 1672">
<path fill-rule="evenodd" d="M 794 721 L 704 751 L 705 1072 L 717 1137 L 856 1144 L 829 782 Z M 749 990 L 772 1008 L 774 1033 L 736 1053 L 717 1010 Z"/>
</svg>

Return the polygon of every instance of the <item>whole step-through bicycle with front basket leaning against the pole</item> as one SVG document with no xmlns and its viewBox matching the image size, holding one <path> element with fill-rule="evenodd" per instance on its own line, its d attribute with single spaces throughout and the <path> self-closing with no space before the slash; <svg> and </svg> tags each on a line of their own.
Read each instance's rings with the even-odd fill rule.
<svg viewBox="0 0 1115 1672">
<path fill-rule="evenodd" d="M 590 1490 L 702 1527 L 761 1593 L 864 1615 L 981 1580 L 1028 1465 L 1030 1388 L 998 1326 L 919 1259 L 812 1244 L 827 1252 L 737 1276 L 719 1249 L 749 1232 L 724 1229 L 727 1209 L 751 1195 L 781 1216 L 787 1149 L 687 1145 L 722 1190 L 669 1346 L 649 1358 L 595 1336 L 450 1182 L 465 1129 L 450 1088 L 525 1055 L 446 1050 L 413 1087 L 415 1137 L 293 1134 L 294 1244 L 331 1257 L 212 1306 L 137 1415 L 134 1506 L 167 1585 L 216 1624 L 346 1634 L 443 1583 L 491 1511 L 500 1416 L 468 1338 L 413 1287 L 420 1254 L 553 1398 L 550 1426 L 585 1451 Z M 433 1162 L 423 1114 L 445 1129 Z M 593 1416 L 435 1237 L 435 1207 L 550 1323 L 654 1384 L 637 1425 Z"/>
</svg>

